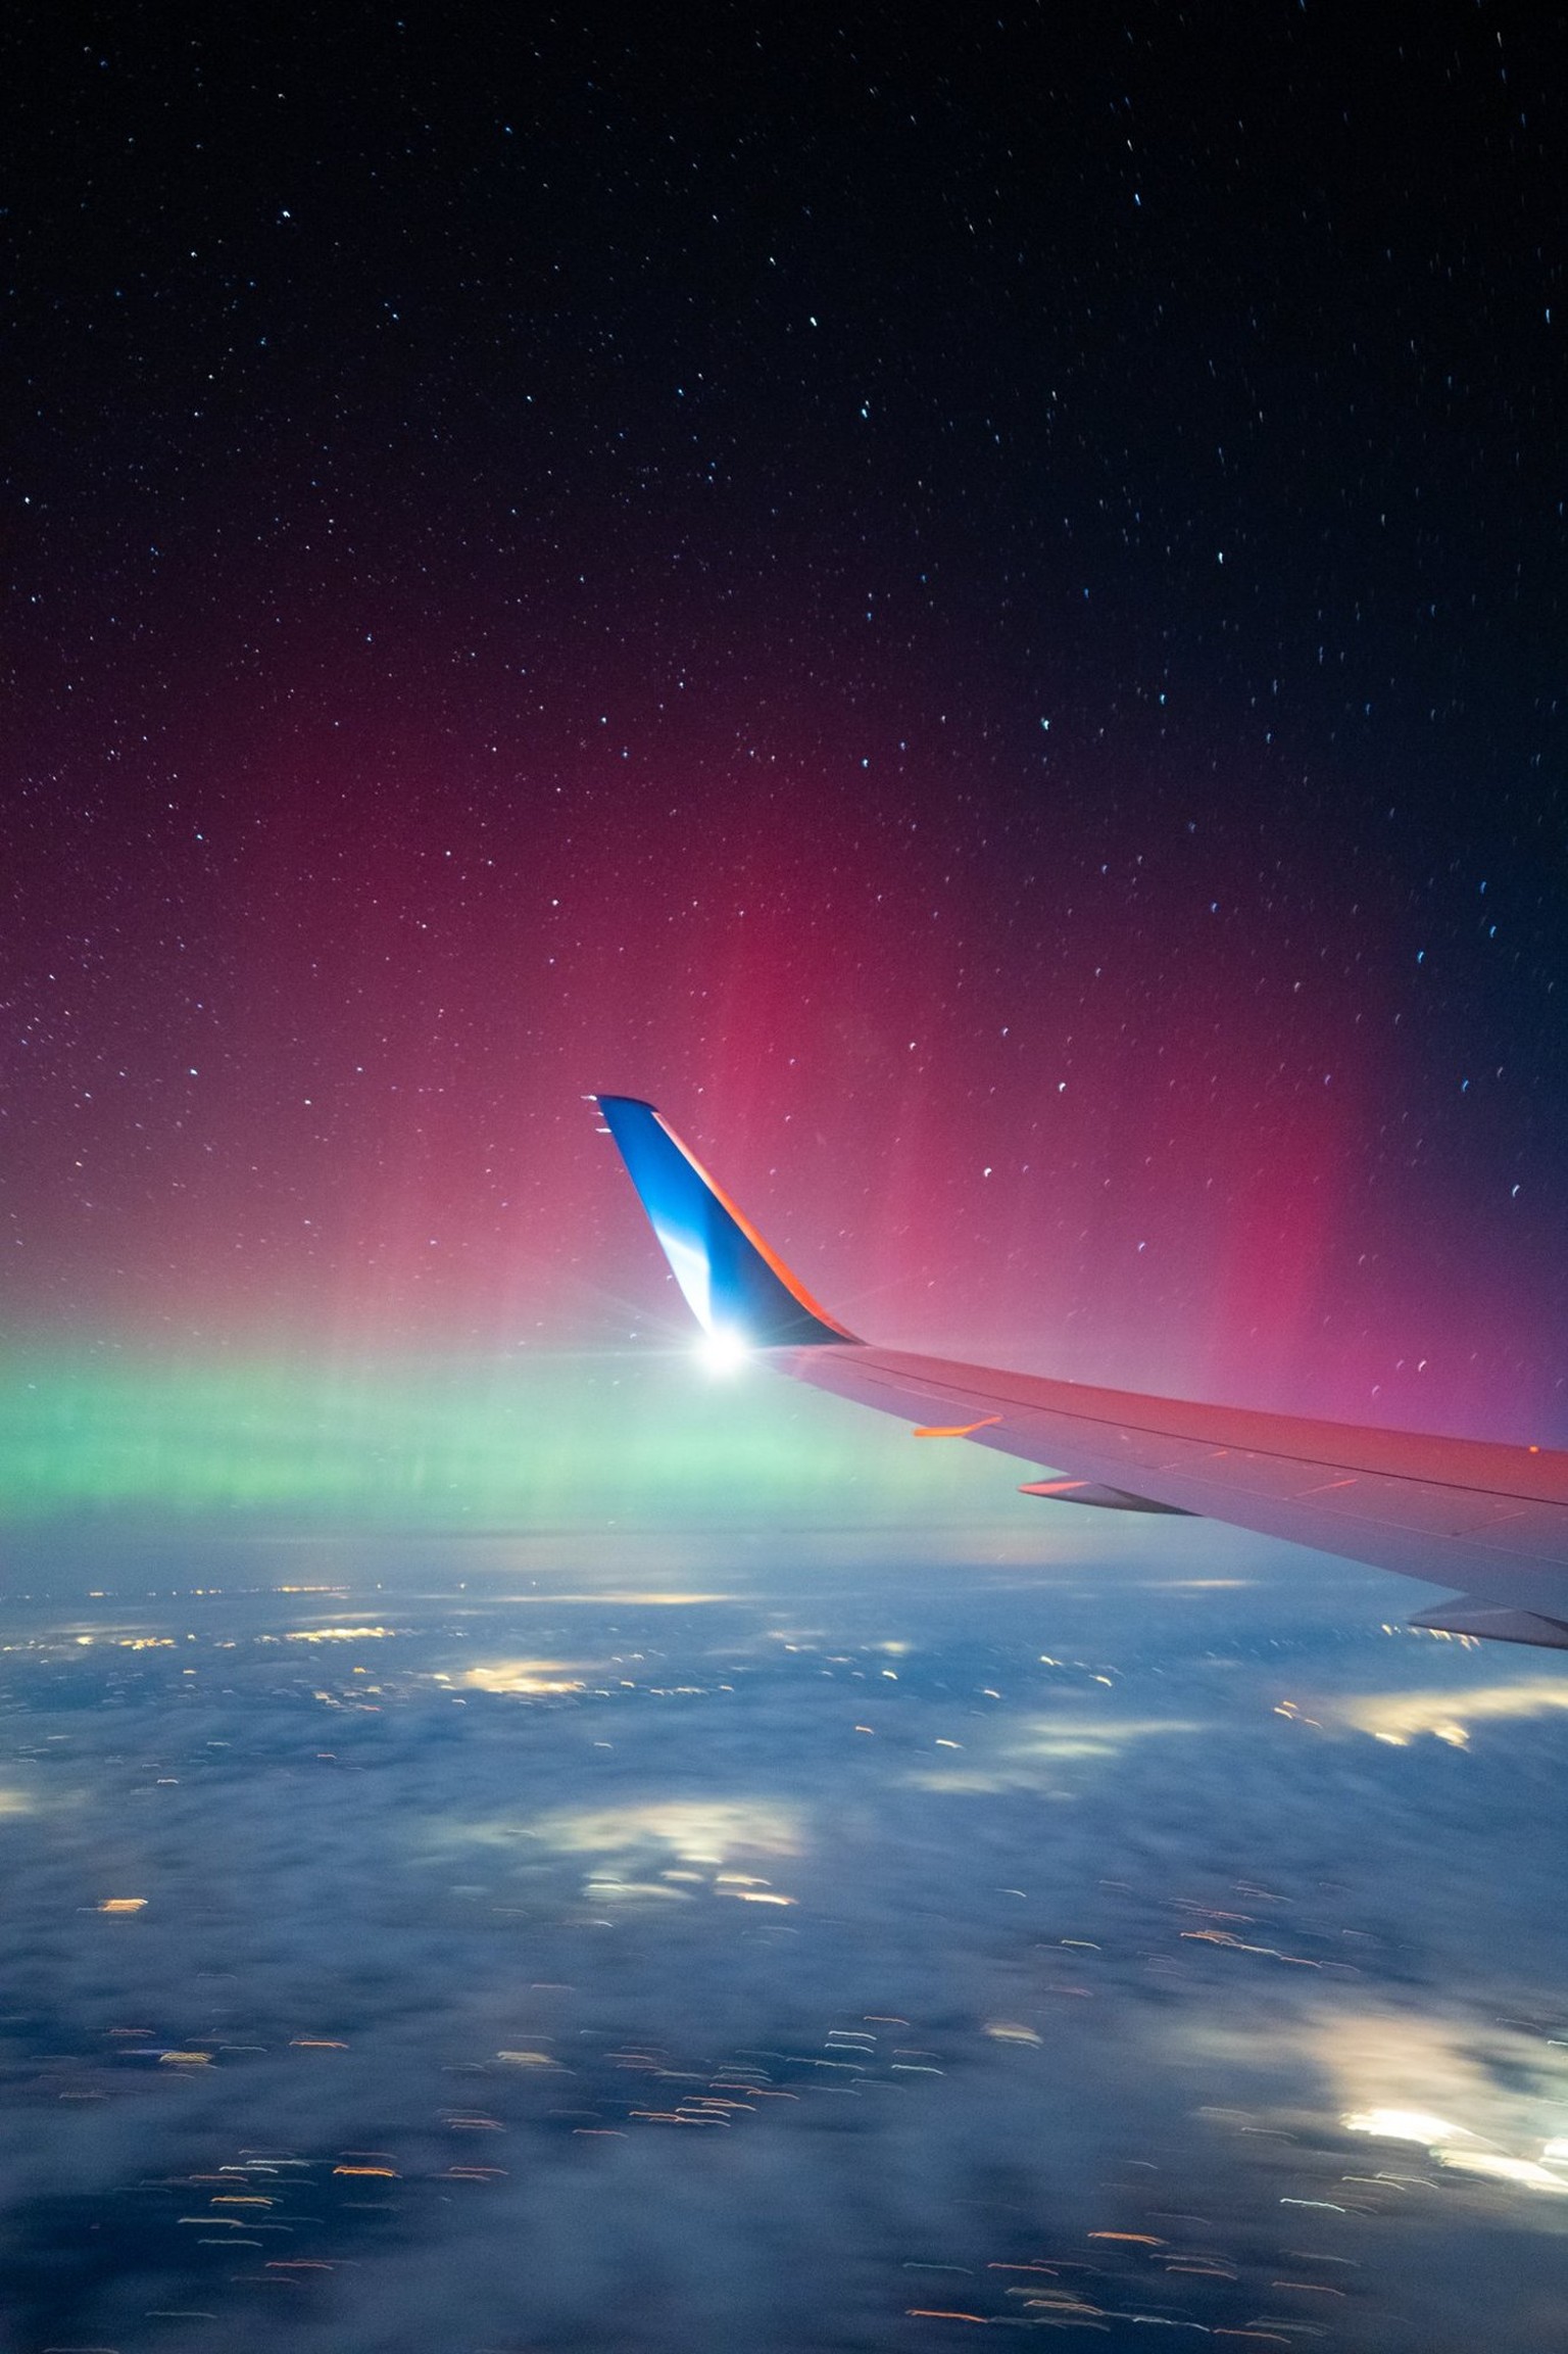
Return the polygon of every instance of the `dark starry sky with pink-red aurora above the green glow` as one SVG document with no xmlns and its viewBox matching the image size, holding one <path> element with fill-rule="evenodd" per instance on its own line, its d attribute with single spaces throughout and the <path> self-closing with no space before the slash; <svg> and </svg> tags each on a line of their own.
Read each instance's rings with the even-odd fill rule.
<svg viewBox="0 0 1568 2354">
<path fill-rule="evenodd" d="M 1559 33 L 24 12 L 21 1351 L 666 1344 L 610 1088 L 876 1339 L 1568 1438 Z"/>
</svg>

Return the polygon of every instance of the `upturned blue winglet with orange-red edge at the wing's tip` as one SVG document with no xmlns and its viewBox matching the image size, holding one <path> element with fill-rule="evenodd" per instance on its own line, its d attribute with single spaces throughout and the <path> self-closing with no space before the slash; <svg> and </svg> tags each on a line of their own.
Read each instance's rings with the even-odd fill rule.
<svg viewBox="0 0 1568 2354">
<path fill-rule="evenodd" d="M 596 1104 L 704 1332 L 753 1349 L 857 1339 L 817 1306 L 652 1104 L 633 1095 L 598 1095 Z"/>
</svg>

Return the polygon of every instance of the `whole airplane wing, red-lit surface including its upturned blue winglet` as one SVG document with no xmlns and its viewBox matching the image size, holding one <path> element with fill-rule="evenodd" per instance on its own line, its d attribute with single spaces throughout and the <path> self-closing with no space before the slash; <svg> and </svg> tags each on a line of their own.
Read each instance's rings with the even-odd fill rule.
<svg viewBox="0 0 1568 2354">
<path fill-rule="evenodd" d="M 916 1427 L 1050 1464 L 1024 1495 L 1201 1514 L 1464 1591 L 1413 1627 L 1568 1650 L 1568 1455 L 1260 1415 L 878 1349 L 817 1306 L 652 1104 L 596 1097 L 709 1342 Z"/>
</svg>

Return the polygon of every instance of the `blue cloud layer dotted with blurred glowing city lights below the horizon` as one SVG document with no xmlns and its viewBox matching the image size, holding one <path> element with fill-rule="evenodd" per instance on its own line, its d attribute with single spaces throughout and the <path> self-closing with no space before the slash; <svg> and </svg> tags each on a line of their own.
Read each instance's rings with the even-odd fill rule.
<svg viewBox="0 0 1568 2354">
<path fill-rule="evenodd" d="M 478 1558 L 21 1624 L 24 2354 L 1561 2340 L 1537 1662 L 1224 1549 Z"/>
</svg>

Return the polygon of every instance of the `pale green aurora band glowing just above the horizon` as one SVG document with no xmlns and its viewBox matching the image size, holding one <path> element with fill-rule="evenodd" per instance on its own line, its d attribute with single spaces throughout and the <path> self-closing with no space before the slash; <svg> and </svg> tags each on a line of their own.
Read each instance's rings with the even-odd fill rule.
<svg viewBox="0 0 1568 2354">
<path fill-rule="evenodd" d="M 1029 1514 L 1010 1490 L 975 1448 L 913 1443 L 760 1368 L 713 1379 L 685 1354 L 323 1363 L 33 1346 L 9 1356 L 0 1394 L 12 1525 L 975 1530 Z"/>
</svg>

